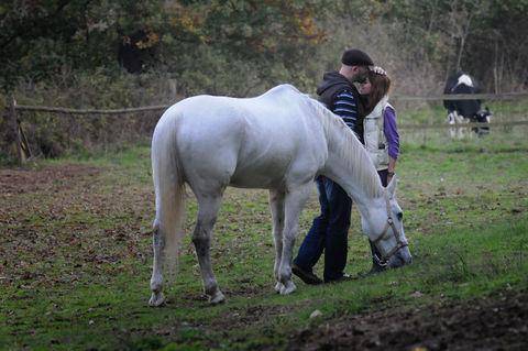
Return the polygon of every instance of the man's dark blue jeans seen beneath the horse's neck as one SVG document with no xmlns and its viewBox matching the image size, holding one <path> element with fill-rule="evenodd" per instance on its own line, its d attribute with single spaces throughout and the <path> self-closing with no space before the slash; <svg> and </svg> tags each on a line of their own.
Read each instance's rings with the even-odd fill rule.
<svg viewBox="0 0 528 351">
<path fill-rule="evenodd" d="M 346 265 L 348 234 L 352 199 L 337 183 L 326 177 L 316 179 L 321 215 L 314 219 L 294 263 L 311 272 L 324 251 L 324 282 L 343 276 Z"/>
</svg>

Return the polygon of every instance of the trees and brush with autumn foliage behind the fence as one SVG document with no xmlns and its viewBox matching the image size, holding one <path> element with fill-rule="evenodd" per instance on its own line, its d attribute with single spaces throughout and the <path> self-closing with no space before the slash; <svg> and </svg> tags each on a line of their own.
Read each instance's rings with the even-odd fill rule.
<svg viewBox="0 0 528 351">
<path fill-rule="evenodd" d="M 11 95 L 21 105 L 124 108 L 255 96 L 280 83 L 312 94 L 348 47 L 383 65 L 395 94 L 441 92 L 457 69 L 485 91 L 515 91 L 528 81 L 526 28 L 528 0 L 8 0 L 0 111 Z M 128 118 L 26 114 L 23 128 L 44 156 L 150 133 Z M 152 125 L 156 116 L 136 118 Z M 87 129 L 68 127 L 76 123 Z M 8 127 L 0 119 L 0 158 L 9 161 Z M 94 133 L 105 130 L 122 133 Z"/>
</svg>

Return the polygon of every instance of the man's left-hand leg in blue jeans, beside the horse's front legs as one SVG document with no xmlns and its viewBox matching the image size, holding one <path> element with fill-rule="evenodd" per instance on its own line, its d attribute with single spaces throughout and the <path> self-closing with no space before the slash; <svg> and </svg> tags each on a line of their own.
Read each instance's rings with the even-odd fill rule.
<svg viewBox="0 0 528 351">
<path fill-rule="evenodd" d="M 319 261 L 319 257 L 322 254 L 322 250 L 324 249 L 324 235 L 328 224 L 328 199 L 324 190 L 323 179 L 323 177 L 319 177 L 316 180 L 317 188 L 319 190 L 319 205 L 321 207 L 321 215 L 314 219 L 311 228 L 302 240 L 297 256 L 294 260 L 294 273 L 296 275 L 299 275 L 299 277 L 301 277 L 302 281 L 308 284 L 320 283 L 319 278 L 317 278 L 319 281 L 315 279 L 316 276 L 312 274 L 312 268 L 316 265 L 317 261 Z M 298 268 L 301 272 L 299 272 Z M 312 275 L 312 277 L 307 277 L 307 282 L 305 279 L 305 276 L 301 276 L 302 273 L 307 275 Z"/>
</svg>

